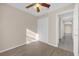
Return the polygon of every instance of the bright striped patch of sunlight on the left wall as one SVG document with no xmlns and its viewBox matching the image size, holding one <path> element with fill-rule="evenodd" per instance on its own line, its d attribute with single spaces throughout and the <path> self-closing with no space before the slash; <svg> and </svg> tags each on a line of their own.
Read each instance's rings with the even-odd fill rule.
<svg viewBox="0 0 79 59">
<path fill-rule="evenodd" d="M 26 29 L 26 44 L 39 41 L 39 34 Z"/>
</svg>

